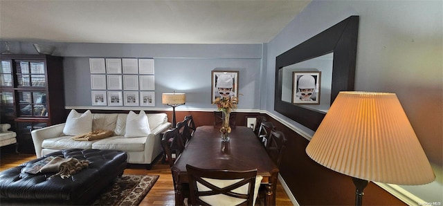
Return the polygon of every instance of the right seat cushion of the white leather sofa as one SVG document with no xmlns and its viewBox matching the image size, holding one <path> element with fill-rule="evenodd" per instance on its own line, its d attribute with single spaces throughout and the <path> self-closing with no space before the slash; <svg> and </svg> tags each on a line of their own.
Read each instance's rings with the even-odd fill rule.
<svg viewBox="0 0 443 206">
<path fill-rule="evenodd" d="M 143 151 L 147 137 L 124 138 L 114 136 L 98 140 L 92 144 L 92 149 L 116 149 L 121 151 Z"/>
</svg>

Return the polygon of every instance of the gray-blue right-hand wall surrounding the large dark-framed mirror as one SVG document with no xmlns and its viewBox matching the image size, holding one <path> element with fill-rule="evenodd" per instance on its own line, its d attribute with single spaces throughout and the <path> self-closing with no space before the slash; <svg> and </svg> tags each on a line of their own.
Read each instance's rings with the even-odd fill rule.
<svg viewBox="0 0 443 206">
<path fill-rule="evenodd" d="M 437 180 L 404 186 L 427 202 L 443 203 L 442 1 L 312 1 L 267 45 L 267 73 L 275 57 L 351 15 L 359 15 L 356 91 L 397 93 L 433 165 Z M 266 84 L 274 85 L 269 75 Z M 273 86 L 266 111 L 306 133 L 314 131 L 274 111 Z"/>
</svg>

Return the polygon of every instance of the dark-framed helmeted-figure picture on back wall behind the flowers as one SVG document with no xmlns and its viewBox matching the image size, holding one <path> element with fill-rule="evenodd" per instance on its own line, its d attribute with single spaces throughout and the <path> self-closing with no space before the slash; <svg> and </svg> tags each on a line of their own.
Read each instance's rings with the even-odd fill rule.
<svg viewBox="0 0 443 206">
<path fill-rule="evenodd" d="M 212 71 L 211 103 L 214 103 L 217 97 L 237 97 L 237 93 L 238 71 Z"/>
</svg>

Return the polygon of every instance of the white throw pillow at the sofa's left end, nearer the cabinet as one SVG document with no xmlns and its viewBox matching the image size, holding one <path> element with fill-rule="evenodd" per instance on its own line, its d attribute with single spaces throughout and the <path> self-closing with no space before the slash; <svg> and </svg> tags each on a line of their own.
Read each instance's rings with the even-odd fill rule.
<svg viewBox="0 0 443 206">
<path fill-rule="evenodd" d="M 82 135 L 92 130 L 92 113 L 91 111 L 85 111 L 80 114 L 75 110 L 69 112 L 68 118 L 66 118 L 66 124 L 64 124 L 63 133 L 65 135 Z"/>
</svg>

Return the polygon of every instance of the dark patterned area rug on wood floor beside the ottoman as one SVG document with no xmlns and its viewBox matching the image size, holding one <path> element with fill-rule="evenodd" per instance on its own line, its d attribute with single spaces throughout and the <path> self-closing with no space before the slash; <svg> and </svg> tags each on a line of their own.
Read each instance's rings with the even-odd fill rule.
<svg viewBox="0 0 443 206">
<path fill-rule="evenodd" d="M 125 174 L 105 189 L 92 205 L 139 205 L 159 176 Z"/>
</svg>

